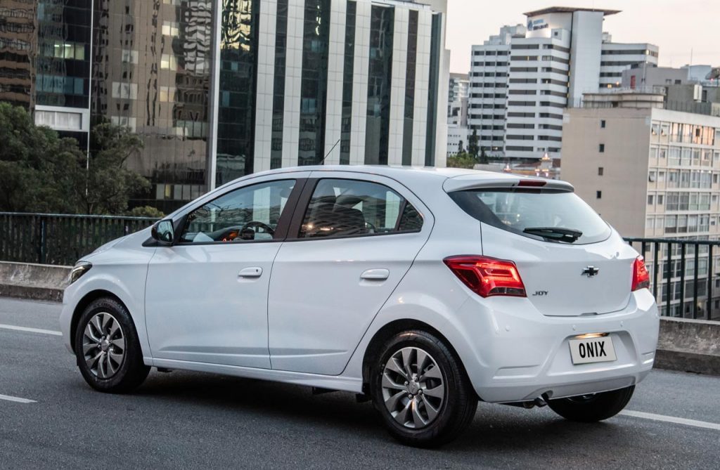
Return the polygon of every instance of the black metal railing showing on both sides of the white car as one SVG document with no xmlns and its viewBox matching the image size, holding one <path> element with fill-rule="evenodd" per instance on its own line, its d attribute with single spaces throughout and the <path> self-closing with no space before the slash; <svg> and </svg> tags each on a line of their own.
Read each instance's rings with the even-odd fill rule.
<svg viewBox="0 0 720 470">
<path fill-rule="evenodd" d="M 0 212 L 0 261 L 73 265 L 150 217 Z M 720 240 L 625 238 L 641 253 L 662 315 L 720 320 Z"/>
</svg>

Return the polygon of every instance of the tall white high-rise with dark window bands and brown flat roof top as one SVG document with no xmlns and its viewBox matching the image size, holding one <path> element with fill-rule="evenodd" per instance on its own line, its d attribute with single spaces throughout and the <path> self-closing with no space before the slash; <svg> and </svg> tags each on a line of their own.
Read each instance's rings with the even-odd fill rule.
<svg viewBox="0 0 720 470">
<path fill-rule="evenodd" d="M 634 63 L 657 64 L 657 46 L 611 42 L 616 10 L 552 7 L 526 13 L 472 46 L 468 125 L 490 155 L 560 158 L 562 109 L 582 94 L 619 86 Z"/>
</svg>

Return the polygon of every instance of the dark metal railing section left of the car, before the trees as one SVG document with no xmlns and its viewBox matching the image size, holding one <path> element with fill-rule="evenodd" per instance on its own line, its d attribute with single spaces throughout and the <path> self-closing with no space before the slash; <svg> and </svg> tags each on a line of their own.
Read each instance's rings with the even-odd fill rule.
<svg viewBox="0 0 720 470">
<path fill-rule="evenodd" d="M 149 217 L 0 212 L 0 261 L 72 266 L 99 246 L 153 222 Z"/>
</svg>

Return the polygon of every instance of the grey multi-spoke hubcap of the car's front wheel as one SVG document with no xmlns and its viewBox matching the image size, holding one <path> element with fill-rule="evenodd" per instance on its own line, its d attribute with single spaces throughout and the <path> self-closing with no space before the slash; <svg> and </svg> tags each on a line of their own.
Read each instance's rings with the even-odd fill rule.
<svg viewBox="0 0 720 470">
<path fill-rule="evenodd" d="M 83 357 L 88 369 L 99 379 L 117 374 L 125 359 L 125 335 L 115 317 L 99 312 L 85 325 Z"/>
</svg>

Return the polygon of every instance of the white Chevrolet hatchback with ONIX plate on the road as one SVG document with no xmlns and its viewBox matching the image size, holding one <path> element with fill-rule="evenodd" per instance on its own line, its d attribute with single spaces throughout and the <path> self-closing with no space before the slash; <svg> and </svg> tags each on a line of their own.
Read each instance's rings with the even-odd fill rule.
<svg viewBox="0 0 720 470">
<path fill-rule="evenodd" d="M 648 284 L 562 181 L 285 168 L 82 258 L 60 320 L 102 392 L 153 366 L 344 390 L 403 443 L 436 446 L 478 400 L 620 412 L 654 361 Z"/>
</svg>

